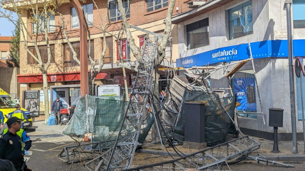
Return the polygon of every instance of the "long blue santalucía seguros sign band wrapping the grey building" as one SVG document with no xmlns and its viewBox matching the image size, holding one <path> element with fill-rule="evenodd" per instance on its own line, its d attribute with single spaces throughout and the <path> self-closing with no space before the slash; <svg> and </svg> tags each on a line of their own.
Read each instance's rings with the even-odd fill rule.
<svg viewBox="0 0 305 171">
<path fill-rule="evenodd" d="M 266 40 L 251 44 L 253 58 L 288 57 L 287 40 Z M 305 40 L 293 40 L 293 55 L 305 56 Z M 248 44 L 222 47 L 176 60 L 177 67 L 191 68 L 219 62 L 239 61 L 250 57 Z"/>
</svg>

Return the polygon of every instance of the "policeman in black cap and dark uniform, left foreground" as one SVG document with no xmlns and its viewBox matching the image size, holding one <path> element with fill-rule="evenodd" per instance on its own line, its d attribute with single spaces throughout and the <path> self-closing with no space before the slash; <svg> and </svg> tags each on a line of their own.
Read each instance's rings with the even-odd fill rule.
<svg viewBox="0 0 305 171">
<path fill-rule="evenodd" d="M 16 134 L 20 131 L 21 121 L 18 117 L 10 117 L 6 124 L 9 127 L 6 134 L 0 137 L 0 159 L 9 160 L 14 164 L 17 171 L 21 170 L 23 165 L 23 155 L 29 147 L 26 145 L 21 151 L 20 137 Z"/>
</svg>

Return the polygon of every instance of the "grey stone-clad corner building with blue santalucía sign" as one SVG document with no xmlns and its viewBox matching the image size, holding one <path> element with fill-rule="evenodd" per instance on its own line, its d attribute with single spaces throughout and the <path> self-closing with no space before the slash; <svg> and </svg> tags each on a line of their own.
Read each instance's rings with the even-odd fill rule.
<svg viewBox="0 0 305 171">
<path fill-rule="evenodd" d="M 221 4 L 223 3 L 223 4 Z M 233 66 L 211 73 L 212 88 L 228 88 L 237 93 L 239 125 L 245 134 L 271 139 L 269 108 L 284 109 L 280 140 L 292 139 L 289 66 L 285 1 L 282 0 L 214 0 L 172 17 L 178 26 L 179 58 L 177 67 L 221 66 L 248 59 L 251 44 L 257 84 L 251 61 L 225 78 Z M 217 8 L 215 5 L 221 4 Z M 304 57 L 305 2 L 292 1 L 292 35 L 295 57 Z M 180 72 L 182 75 L 183 72 Z M 209 75 L 206 75 L 209 76 Z M 258 85 L 262 108 L 257 92 Z M 304 79 L 303 79 L 304 85 Z M 303 89 L 305 90 L 305 89 Z M 295 77 L 298 138 L 302 138 L 300 79 Z M 250 95 L 252 94 L 252 96 Z M 254 114 L 255 113 L 255 114 Z"/>
</svg>

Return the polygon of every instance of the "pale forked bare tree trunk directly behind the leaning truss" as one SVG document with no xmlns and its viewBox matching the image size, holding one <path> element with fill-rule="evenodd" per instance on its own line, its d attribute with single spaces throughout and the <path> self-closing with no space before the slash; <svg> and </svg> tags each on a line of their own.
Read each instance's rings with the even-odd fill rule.
<svg viewBox="0 0 305 171">
<path fill-rule="evenodd" d="M 130 25 L 127 23 L 127 19 L 126 19 L 126 15 L 124 12 L 124 7 L 123 7 L 123 3 L 122 0 L 117 0 L 118 2 L 118 6 L 119 6 L 119 11 L 121 13 L 121 17 L 123 20 L 123 26 L 124 26 L 124 30 L 126 32 L 127 35 L 127 42 L 130 45 L 130 49 L 132 51 L 132 53 L 134 54 L 135 58 L 137 59 L 138 62 L 141 61 L 142 58 L 142 54 L 140 52 L 140 48 L 136 46 L 135 44 L 135 39 L 132 37 L 131 35 L 131 31 L 130 31 Z M 174 5 L 175 5 L 176 0 L 171 0 L 170 1 L 170 5 L 168 7 L 168 11 L 167 11 L 167 15 L 166 18 L 163 22 L 163 24 L 165 24 L 165 29 L 164 29 L 164 34 L 163 34 L 163 38 L 161 43 L 158 43 L 158 57 L 155 61 L 156 66 L 158 67 L 161 62 L 163 61 L 164 57 L 165 57 L 165 48 L 167 45 L 167 41 L 170 38 L 170 32 L 171 32 L 171 17 L 173 14 L 173 9 L 174 9 Z M 156 68 L 157 68 L 156 67 Z M 154 72 L 157 72 L 156 70 Z M 154 84 L 153 84 L 153 90 L 154 90 L 154 94 L 155 95 L 159 95 L 159 74 L 155 73 L 153 74 L 154 78 Z M 154 98 L 154 102 L 155 104 L 159 103 L 159 100 Z M 157 107 L 159 107 L 158 105 L 156 105 Z M 155 111 L 156 112 L 156 111 Z M 156 130 L 156 129 L 155 129 Z M 156 132 L 155 132 L 156 135 Z M 157 136 L 154 136 L 153 139 L 156 141 Z"/>
</svg>

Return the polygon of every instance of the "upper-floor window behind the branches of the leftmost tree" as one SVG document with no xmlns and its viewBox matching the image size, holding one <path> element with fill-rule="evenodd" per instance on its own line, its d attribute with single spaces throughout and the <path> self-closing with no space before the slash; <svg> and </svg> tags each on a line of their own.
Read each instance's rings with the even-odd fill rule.
<svg viewBox="0 0 305 171">
<path fill-rule="evenodd" d="M 54 32 L 55 31 L 55 16 L 54 14 L 48 13 L 49 18 L 47 19 L 47 29 L 48 32 Z M 33 18 L 35 18 L 35 15 L 33 15 Z M 40 16 L 38 16 L 40 18 Z M 39 20 L 39 27 L 38 27 L 38 33 L 44 33 L 44 27 L 45 27 L 45 16 L 41 16 Z M 38 23 L 32 23 L 32 33 L 36 32 L 36 27 Z"/>
</svg>

